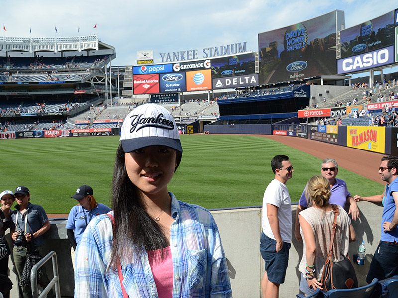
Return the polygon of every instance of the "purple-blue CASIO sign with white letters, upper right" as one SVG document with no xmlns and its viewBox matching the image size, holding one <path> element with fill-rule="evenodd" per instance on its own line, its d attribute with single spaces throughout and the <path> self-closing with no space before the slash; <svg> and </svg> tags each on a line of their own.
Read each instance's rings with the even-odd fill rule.
<svg viewBox="0 0 398 298">
<path fill-rule="evenodd" d="M 394 46 L 337 60 L 337 74 L 371 69 L 394 62 Z"/>
</svg>

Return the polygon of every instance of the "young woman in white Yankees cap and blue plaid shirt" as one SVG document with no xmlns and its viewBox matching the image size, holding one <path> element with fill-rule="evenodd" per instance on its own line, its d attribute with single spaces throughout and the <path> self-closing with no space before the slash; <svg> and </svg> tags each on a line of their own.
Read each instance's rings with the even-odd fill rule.
<svg viewBox="0 0 398 298">
<path fill-rule="evenodd" d="M 231 297 L 212 215 L 168 192 L 183 152 L 173 116 L 139 106 L 120 141 L 113 213 L 91 221 L 78 245 L 75 297 Z"/>
</svg>

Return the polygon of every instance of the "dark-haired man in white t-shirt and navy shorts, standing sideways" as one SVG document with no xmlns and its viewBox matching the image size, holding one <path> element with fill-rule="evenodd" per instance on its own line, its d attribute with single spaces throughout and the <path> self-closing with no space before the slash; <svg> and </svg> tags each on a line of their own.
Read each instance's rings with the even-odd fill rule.
<svg viewBox="0 0 398 298">
<path fill-rule="evenodd" d="M 279 286 L 285 281 L 292 238 L 292 207 L 286 182 L 292 178 L 293 165 L 286 155 L 271 160 L 275 179 L 268 184 L 263 197 L 263 232 L 260 252 L 265 261 L 261 281 L 263 298 L 278 298 Z"/>
</svg>

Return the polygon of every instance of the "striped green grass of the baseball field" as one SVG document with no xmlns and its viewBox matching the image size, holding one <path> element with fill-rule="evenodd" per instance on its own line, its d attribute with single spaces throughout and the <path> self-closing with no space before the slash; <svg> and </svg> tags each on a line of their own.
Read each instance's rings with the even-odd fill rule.
<svg viewBox="0 0 398 298">
<path fill-rule="evenodd" d="M 274 178 L 270 161 L 286 154 L 294 165 L 287 186 L 297 202 L 307 180 L 320 174 L 319 158 L 259 136 L 182 135 L 183 158 L 169 191 L 177 199 L 209 209 L 259 206 Z M 69 213 L 70 198 L 82 184 L 110 206 L 118 136 L 1 140 L 0 191 L 27 186 L 33 204 L 47 213 Z M 343 168 L 338 177 L 352 195 L 379 194 L 381 184 Z"/>
</svg>

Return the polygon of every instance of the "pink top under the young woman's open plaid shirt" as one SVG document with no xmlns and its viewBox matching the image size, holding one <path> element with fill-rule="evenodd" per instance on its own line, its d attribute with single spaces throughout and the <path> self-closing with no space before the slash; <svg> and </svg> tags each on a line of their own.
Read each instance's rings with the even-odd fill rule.
<svg viewBox="0 0 398 298">
<path fill-rule="evenodd" d="M 162 259 L 162 251 L 164 252 Z M 173 258 L 170 246 L 148 251 L 149 265 L 159 298 L 173 297 Z"/>
</svg>

